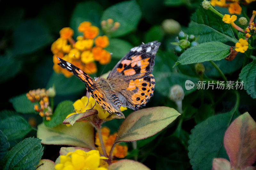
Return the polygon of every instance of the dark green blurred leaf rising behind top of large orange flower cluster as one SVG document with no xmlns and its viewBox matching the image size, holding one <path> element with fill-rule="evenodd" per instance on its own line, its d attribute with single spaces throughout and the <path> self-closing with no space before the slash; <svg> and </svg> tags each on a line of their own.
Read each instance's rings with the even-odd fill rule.
<svg viewBox="0 0 256 170">
<path fill-rule="evenodd" d="M 70 27 L 74 30 L 74 37 L 82 35 L 78 32 L 78 26 L 84 22 L 89 21 L 93 26 L 100 27 L 100 17 L 103 7 L 96 1 L 86 1 L 76 5 L 70 20 Z"/>
</svg>

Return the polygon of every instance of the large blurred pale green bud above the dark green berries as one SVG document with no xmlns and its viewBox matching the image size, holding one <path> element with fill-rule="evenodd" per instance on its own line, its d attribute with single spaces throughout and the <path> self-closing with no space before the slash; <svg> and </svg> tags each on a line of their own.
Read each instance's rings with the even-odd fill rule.
<svg viewBox="0 0 256 170">
<path fill-rule="evenodd" d="M 177 34 L 180 31 L 180 23 L 174 19 L 165 19 L 162 23 L 162 27 L 165 33 Z"/>
</svg>

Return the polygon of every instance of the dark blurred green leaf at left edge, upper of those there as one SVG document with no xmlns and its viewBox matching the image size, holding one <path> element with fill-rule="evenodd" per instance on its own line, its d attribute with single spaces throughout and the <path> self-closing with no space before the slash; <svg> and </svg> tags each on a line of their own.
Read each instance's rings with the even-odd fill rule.
<svg viewBox="0 0 256 170">
<path fill-rule="evenodd" d="M 0 83 L 13 78 L 21 69 L 21 61 L 10 56 L 0 56 Z"/>
</svg>

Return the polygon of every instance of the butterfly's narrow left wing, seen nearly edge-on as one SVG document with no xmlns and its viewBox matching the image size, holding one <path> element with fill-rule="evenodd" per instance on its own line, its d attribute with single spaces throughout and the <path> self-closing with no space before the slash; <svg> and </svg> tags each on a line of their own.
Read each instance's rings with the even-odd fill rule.
<svg viewBox="0 0 256 170">
<path fill-rule="evenodd" d="M 118 107 L 115 105 L 111 105 L 108 102 L 108 98 L 106 93 L 99 87 L 99 84 L 94 81 L 88 74 L 86 74 L 83 70 L 79 69 L 75 65 L 61 59 L 60 60 L 60 67 L 66 69 L 73 73 L 77 78 L 79 78 L 82 82 L 85 83 L 87 91 L 91 94 L 91 96 L 99 103 L 99 105 L 108 111 L 108 113 L 116 113 L 117 115 L 121 116 L 122 112 Z"/>
</svg>

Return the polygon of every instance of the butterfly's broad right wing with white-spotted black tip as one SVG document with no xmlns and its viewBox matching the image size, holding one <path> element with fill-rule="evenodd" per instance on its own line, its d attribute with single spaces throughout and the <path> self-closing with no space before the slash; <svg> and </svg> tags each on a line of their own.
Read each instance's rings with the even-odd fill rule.
<svg viewBox="0 0 256 170">
<path fill-rule="evenodd" d="M 118 93 L 122 106 L 138 110 L 153 96 L 155 78 L 152 70 L 160 44 L 153 41 L 132 48 L 109 73 L 107 79 Z"/>
</svg>

